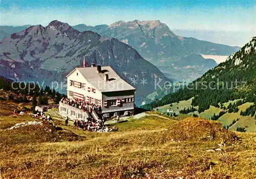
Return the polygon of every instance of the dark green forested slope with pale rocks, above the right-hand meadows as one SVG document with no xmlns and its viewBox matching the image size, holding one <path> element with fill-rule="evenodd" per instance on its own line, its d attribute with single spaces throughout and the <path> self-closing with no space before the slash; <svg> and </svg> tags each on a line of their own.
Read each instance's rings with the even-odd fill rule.
<svg viewBox="0 0 256 179">
<path fill-rule="evenodd" d="M 256 103 L 256 37 L 244 45 L 237 53 L 230 55 L 226 62 L 208 70 L 201 78 L 176 93 L 168 94 L 160 100 L 145 105 L 155 107 L 187 100 L 195 97 L 193 106 L 198 112 L 218 106 L 229 100 L 245 99 Z"/>
</svg>

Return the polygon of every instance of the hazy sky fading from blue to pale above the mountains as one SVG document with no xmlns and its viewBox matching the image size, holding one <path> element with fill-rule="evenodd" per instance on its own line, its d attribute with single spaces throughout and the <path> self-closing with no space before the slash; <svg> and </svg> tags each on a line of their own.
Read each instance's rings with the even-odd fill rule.
<svg viewBox="0 0 256 179">
<path fill-rule="evenodd" d="M 47 25 L 55 19 L 70 25 L 79 23 L 98 25 L 137 19 L 160 20 L 171 30 L 256 34 L 255 0 L 0 0 L 0 2 L 0 25 Z"/>
</svg>

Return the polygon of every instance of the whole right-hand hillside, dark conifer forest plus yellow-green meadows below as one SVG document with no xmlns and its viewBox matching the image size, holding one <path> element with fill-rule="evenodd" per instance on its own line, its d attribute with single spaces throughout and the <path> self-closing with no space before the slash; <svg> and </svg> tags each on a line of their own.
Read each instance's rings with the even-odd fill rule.
<svg viewBox="0 0 256 179">
<path fill-rule="evenodd" d="M 185 108 L 186 115 L 197 114 L 207 119 L 218 119 L 224 126 L 231 125 L 229 126 L 230 130 L 245 127 L 246 131 L 256 131 L 254 117 L 256 110 L 255 59 L 256 37 L 253 37 L 241 50 L 230 55 L 226 62 L 207 71 L 201 78 L 183 89 L 143 107 L 158 109 L 159 112 L 166 112 L 167 109 L 177 107 L 175 112 L 178 112 Z M 178 102 L 186 105 L 177 106 Z M 173 108 L 170 107 L 170 104 Z M 241 111 L 245 111 L 249 107 L 250 109 L 247 109 L 242 116 Z M 238 118 L 238 121 L 233 122 Z"/>
</svg>

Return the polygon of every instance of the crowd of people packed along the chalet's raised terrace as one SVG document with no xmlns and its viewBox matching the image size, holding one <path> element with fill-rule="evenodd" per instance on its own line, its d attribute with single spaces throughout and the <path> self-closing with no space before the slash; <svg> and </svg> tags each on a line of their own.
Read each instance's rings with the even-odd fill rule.
<svg viewBox="0 0 256 179">
<path fill-rule="evenodd" d="M 63 104 L 73 106 L 75 108 L 79 108 L 80 110 L 83 110 L 83 111 L 88 111 L 89 113 L 91 113 L 92 111 L 101 112 L 101 106 L 95 105 L 93 103 L 90 104 L 80 99 L 61 98 L 60 102 Z"/>
</svg>

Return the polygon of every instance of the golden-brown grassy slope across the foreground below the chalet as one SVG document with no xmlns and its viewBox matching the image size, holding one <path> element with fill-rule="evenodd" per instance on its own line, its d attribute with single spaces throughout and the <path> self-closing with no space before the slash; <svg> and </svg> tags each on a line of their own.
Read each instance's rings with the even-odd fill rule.
<svg viewBox="0 0 256 179">
<path fill-rule="evenodd" d="M 0 128 L 27 120 L 30 118 L 3 117 Z M 119 132 L 103 134 L 84 132 L 63 125 L 63 121 L 55 121 L 86 139 L 17 145 L 12 144 L 16 136 L 7 136 L 0 130 L 1 173 L 4 178 L 98 178 L 100 175 L 108 178 L 252 178 L 256 175 L 255 134 L 237 133 L 242 142 L 224 147 L 223 152 L 206 151 L 218 148 L 220 141 L 159 142 L 161 139 L 156 133 L 164 132 L 175 122 L 150 115 L 119 123 Z"/>
</svg>

